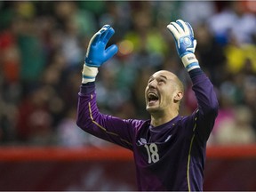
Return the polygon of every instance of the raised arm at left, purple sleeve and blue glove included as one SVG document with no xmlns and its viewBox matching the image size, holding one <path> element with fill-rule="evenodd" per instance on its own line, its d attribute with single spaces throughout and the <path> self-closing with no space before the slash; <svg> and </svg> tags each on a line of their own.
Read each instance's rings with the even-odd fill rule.
<svg viewBox="0 0 256 192">
<path fill-rule="evenodd" d="M 98 68 L 112 58 L 118 48 L 116 44 L 106 48 L 108 40 L 115 33 L 109 25 L 103 26 L 88 45 L 82 71 L 82 85 L 78 94 L 76 124 L 85 132 L 124 148 L 132 149 L 132 120 L 122 120 L 100 113 L 96 103 L 95 78 Z"/>
</svg>

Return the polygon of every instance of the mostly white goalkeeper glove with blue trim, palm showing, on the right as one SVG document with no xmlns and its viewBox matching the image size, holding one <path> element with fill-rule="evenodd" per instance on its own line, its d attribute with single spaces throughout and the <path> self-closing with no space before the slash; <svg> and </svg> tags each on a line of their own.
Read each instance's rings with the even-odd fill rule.
<svg viewBox="0 0 256 192">
<path fill-rule="evenodd" d="M 182 60 L 182 63 L 188 71 L 194 68 L 200 68 L 198 60 L 196 60 L 196 39 L 194 38 L 193 28 L 188 22 L 176 20 L 171 22 L 167 28 L 174 37 L 176 49 Z"/>
</svg>

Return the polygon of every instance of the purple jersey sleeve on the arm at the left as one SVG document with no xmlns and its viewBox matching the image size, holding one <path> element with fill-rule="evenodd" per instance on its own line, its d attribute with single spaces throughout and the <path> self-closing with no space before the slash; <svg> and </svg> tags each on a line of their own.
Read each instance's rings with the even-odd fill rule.
<svg viewBox="0 0 256 192">
<path fill-rule="evenodd" d="M 85 132 L 124 148 L 132 149 L 139 120 L 124 120 L 101 114 L 96 103 L 95 84 L 82 84 L 78 93 L 76 124 Z"/>
</svg>

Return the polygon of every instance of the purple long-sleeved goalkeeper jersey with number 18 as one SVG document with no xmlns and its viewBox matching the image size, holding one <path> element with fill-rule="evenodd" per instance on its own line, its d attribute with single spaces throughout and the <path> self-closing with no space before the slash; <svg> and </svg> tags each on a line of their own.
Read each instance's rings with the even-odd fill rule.
<svg viewBox="0 0 256 192">
<path fill-rule="evenodd" d="M 213 85 L 202 71 L 191 80 L 198 108 L 190 116 L 176 116 L 157 127 L 150 120 L 101 114 L 95 84 L 83 84 L 78 94 L 77 125 L 133 151 L 139 190 L 202 191 L 206 141 L 219 105 Z"/>
</svg>

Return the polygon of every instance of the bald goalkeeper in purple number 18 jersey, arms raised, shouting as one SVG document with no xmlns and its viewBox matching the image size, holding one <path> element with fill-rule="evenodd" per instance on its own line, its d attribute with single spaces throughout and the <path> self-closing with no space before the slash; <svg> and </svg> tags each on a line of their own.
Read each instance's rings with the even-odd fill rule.
<svg viewBox="0 0 256 192">
<path fill-rule="evenodd" d="M 149 120 L 101 114 L 94 81 L 98 68 L 118 50 L 116 44 L 106 48 L 115 31 L 105 25 L 92 36 L 85 55 L 76 123 L 85 132 L 132 150 L 139 190 L 203 190 L 206 141 L 219 104 L 212 83 L 196 60 L 191 26 L 176 20 L 167 28 L 193 83 L 198 108 L 190 116 L 180 116 L 183 85 L 172 72 L 160 70 L 149 77 L 145 89 Z"/>
</svg>

